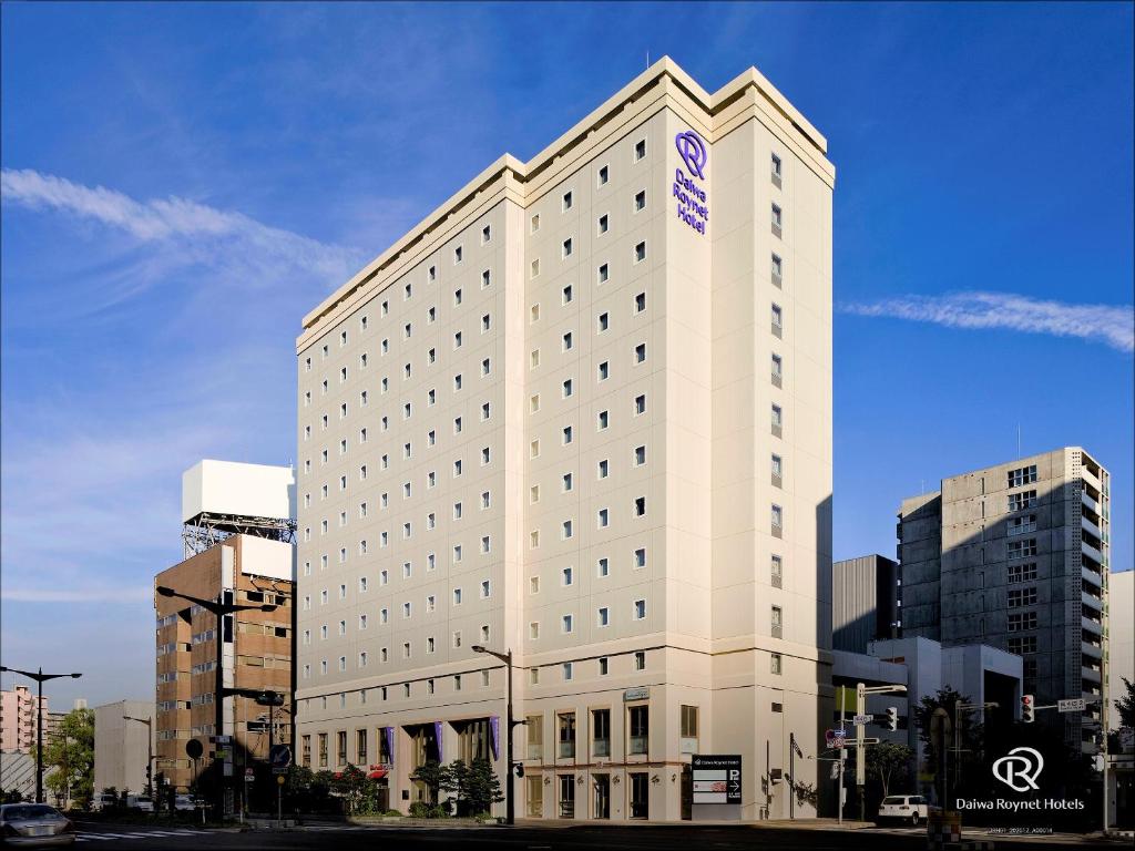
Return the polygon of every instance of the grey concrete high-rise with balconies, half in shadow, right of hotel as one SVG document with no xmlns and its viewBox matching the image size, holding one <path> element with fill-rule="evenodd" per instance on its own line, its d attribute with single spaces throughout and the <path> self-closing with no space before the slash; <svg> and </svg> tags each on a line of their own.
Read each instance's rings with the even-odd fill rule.
<svg viewBox="0 0 1135 851">
<path fill-rule="evenodd" d="M 1065 447 L 943 479 L 905 499 L 898 522 L 903 635 L 1020 655 L 1040 705 L 1094 699 L 1083 714 L 1037 714 L 1091 752 L 1083 722 L 1099 719 L 1104 693 L 1109 490 L 1099 462 Z"/>
</svg>

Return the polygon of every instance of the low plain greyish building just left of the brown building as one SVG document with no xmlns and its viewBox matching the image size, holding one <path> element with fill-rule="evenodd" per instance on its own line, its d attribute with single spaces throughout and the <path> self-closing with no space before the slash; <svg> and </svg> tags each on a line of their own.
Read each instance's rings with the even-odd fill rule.
<svg viewBox="0 0 1135 851">
<path fill-rule="evenodd" d="M 145 791 L 145 766 L 153 748 L 155 725 L 148 727 L 131 718 L 153 719 L 149 700 L 117 700 L 94 707 L 94 791 L 114 786 L 119 793 Z M 183 755 L 184 756 L 184 752 Z M 154 778 L 165 766 L 154 767 Z"/>
</svg>

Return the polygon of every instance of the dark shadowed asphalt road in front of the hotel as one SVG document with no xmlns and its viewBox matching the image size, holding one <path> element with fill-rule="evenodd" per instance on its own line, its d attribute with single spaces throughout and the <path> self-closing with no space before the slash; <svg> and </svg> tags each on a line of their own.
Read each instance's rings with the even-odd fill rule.
<svg viewBox="0 0 1135 851">
<path fill-rule="evenodd" d="M 515 827 L 356 827 L 348 825 L 319 825 L 291 831 L 250 831 L 234 833 L 201 831 L 180 827 L 146 827 L 141 825 L 110 825 L 79 821 L 76 848 L 126 849 L 128 851 L 190 851 L 191 849 L 278 849 L 305 851 L 306 849 L 389 848 L 453 849 L 461 851 L 574 851 L 575 849 L 619 849 L 619 851 L 709 851 L 745 849 L 762 851 L 808 849 L 809 851 L 842 851 L 872 849 L 873 851 L 924 851 L 926 834 L 911 829 L 809 829 L 772 827 L 765 825 L 571 825 Z M 972 833 L 965 839 L 986 839 Z M 1044 839 L 995 839 L 1006 851 L 1045 851 L 1075 846 L 1088 849 L 1120 848 L 1117 843 L 1085 841 L 1079 837 L 1052 836 Z M 1129 846 L 1125 846 L 1129 848 Z"/>
</svg>

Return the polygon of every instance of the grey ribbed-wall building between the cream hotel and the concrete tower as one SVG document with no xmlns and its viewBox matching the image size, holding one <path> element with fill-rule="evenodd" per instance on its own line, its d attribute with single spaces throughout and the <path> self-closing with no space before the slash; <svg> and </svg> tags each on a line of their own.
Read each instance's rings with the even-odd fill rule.
<svg viewBox="0 0 1135 851">
<path fill-rule="evenodd" d="M 902 627 L 899 565 L 869 555 L 832 563 L 832 647 L 863 654 Z"/>
</svg>

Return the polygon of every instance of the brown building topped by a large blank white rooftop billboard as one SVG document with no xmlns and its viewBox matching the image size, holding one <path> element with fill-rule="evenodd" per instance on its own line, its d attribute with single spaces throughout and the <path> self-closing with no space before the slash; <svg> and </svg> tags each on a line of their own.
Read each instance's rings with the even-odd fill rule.
<svg viewBox="0 0 1135 851">
<path fill-rule="evenodd" d="M 185 561 L 159 573 L 155 589 L 165 585 L 209 600 L 224 593 L 229 601 L 278 607 L 238 612 L 218 624 L 201 606 L 154 591 L 155 770 L 178 790 L 187 790 L 194 770 L 209 764 L 215 748 L 210 736 L 233 736 L 227 776 L 243 775 L 245 766 L 268 757 L 267 709 L 252 699 L 225 698 L 225 728 L 217 731 L 218 640 L 225 654 L 225 688 L 293 689 L 293 471 L 203 461 L 183 477 L 182 514 Z M 291 741 L 289 710 L 285 706 L 275 713 L 275 741 Z M 204 749 L 197 766 L 186 756 L 190 739 L 200 740 Z"/>
</svg>

